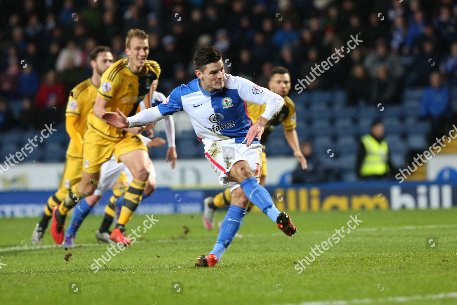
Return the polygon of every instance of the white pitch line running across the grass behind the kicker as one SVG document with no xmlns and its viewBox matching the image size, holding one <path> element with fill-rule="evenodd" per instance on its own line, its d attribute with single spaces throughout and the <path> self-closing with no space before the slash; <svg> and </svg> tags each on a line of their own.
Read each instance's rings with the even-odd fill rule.
<svg viewBox="0 0 457 305">
<path fill-rule="evenodd" d="M 383 227 L 383 228 L 357 228 L 357 232 L 374 232 L 374 231 L 387 231 L 387 230 L 417 230 L 417 229 L 439 229 L 439 228 L 453 228 L 457 227 L 457 224 L 454 225 L 405 225 L 400 227 Z M 322 234 L 333 232 L 332 230 L 325 230 L 325 231 L 308 231 L 305 234 Z M 271 233 L 268 235 L 282 235 L 283 233 Z M 243 237 L 258 237 L 259 235 L 265 234 L 244 234 Z M 191 238 L 165 238 L 165 239 L 156 239 L 156 240 L 148 240 L 151 242 L 168 242 L 168 241 L 176 241 L 176 240 L 184 240 L 184 241 L 191 241 L 194 239 L 204 239 L 204 238 L 214 238 L 213 236 L 205 236 L 205 237 L 191 237 Z M 140 240 L 143 241 L 143 240 Z M 137 241 L 138 242 L 138 241 Z M 100 246 L 103 244 L 100 243 L 75 243 L 74 248 L 78 248 L 80 245 L 84 247 L 91 247 L 91 246 Z M 44 246 L 12 246 L 8 248 L 0 248 L 0 252 L 9 252 L 9 251 L 24 251 L 24 250 L 42 250 L 42 249 L 52 249 L 52 248 L 60 248 L 60 245 L 44 245 Z M 74 249 L 73 248 L 73 249 Z"/>
</svg>

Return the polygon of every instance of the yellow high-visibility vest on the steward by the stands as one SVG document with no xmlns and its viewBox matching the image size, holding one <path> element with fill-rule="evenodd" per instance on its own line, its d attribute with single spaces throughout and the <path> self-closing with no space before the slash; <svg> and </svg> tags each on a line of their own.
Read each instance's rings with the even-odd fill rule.
<svg viewBox="0 0 457 305">
<path fill-rule="evenodd" d="M 389 166 L 387 165 L 388 146 L 385 140 L 381 143 L 371 134 L 366 134 L 361 138 L 367 154 L 360 167 L 361 176 L 384 175 Z"/>
</svg>

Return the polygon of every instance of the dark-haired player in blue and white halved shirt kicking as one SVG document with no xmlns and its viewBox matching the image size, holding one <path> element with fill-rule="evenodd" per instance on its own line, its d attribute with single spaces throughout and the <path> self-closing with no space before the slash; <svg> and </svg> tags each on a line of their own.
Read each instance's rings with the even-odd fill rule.
<svg viewBox="0 0 457 305">
<path fill-rule="evenodd" d="M 265 188 L 258 183 L 262 164 L 259 140 L 265 125 L 284 105 L 284 99 L 266 88 L 239 76 L 225 74 L 218 48 L 204 46 L 194 56 L 197 79 L 176 87 L 156 107 L 126 118 L 105 112 L 101 118 L 117 128 L 157 122 L 177 111 L 185 111 L 205 145 L 205 156 L 219 174 L 219 183 L 232 188 L 232 202 L 223 219 L 218 240 L 208 255 L 198 257 L 196 266 L 213 267 L 238 232 L 249 200 L 262 210 L 285 234 L 297 232 L 286 213 L 281 213 Z M 265 112 L 252 124 L 246 102 L 266 104 Z M 249 198 L 249 199 L 248 199 Z"/>
</svg>

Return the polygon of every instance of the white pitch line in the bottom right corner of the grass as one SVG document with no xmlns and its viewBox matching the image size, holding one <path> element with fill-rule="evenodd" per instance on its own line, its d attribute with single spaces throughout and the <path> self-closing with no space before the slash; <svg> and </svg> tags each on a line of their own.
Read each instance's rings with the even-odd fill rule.
<svg viewBox="0 0 457 305">
<path fill-rule="evenodd" d="M 388 298 L 378 299 L 353 299 L 353 300 L 333 300 L 333 301 L 314 301 L 302 302 L 298 304 L 285 305 L 351 305 L 351 304 L 372 304 L 372 303 L 404 303 L 410 301 L 421 300 L 441 300 L 441 299 L 456 299 L 457 292 L 446 292 L 441 294 L 426 294 L 426 295 L 410 295 L 410 296 L 391 296 Z"/>
</svg>

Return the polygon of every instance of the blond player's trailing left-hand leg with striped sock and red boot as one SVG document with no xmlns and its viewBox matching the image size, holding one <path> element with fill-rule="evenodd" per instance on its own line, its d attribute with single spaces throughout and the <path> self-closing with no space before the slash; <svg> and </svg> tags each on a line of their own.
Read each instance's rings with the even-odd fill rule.
<svg viewBox="0 0 457 305">
<path fill-rule="evenodd" d="M 94 193 L 99 177 L 99 171 L 95 173 L 83 171 L 81 182 L 71 186 L 69 192 L 58 208 L 57 206 L 54 207 L 51 235 L 56 243 L 60 244 L 64 241 L 65 218 L 69 210 L 72 209 L 76 203 L 80 202 L 82 198 L 90 196 Z"/>
</svg>

